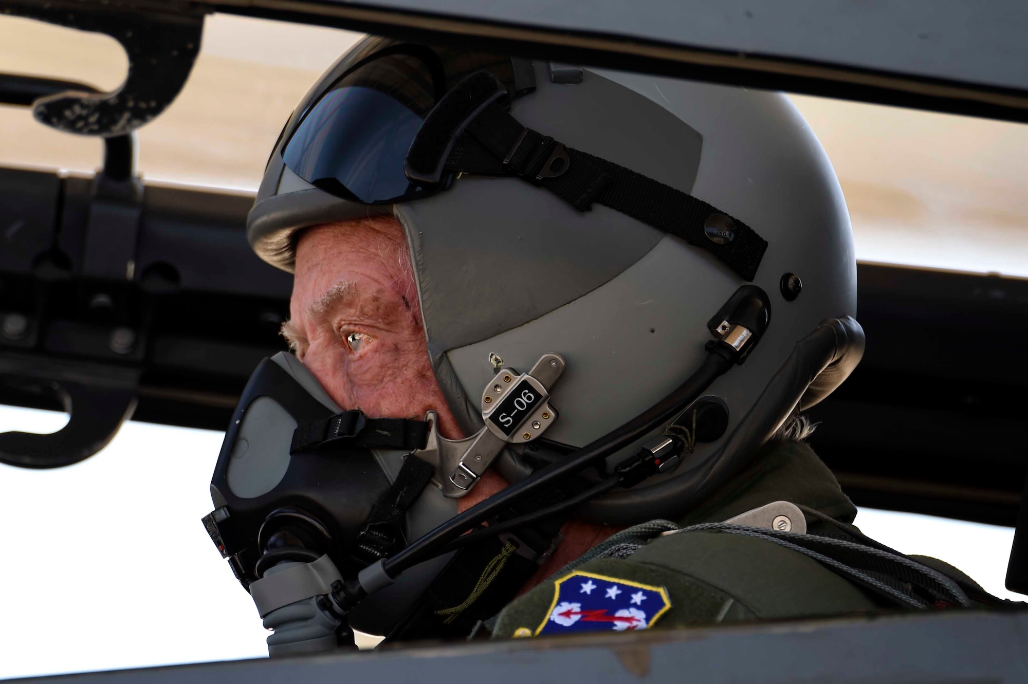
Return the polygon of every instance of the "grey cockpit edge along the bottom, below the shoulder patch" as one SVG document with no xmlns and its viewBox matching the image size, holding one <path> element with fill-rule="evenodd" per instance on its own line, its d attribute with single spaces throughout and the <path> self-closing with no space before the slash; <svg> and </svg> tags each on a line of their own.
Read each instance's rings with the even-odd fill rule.
<svg viewBox="0 0 1028 684">
<path fill-rule="evenodd" d="M 531 625 L 533 628 L 535 625 Z M 407 682 L 1024 682 L 1028 613 L 876 618 L 582 634 L 65 675 L 33 684 Z M 11 680 L 15 681 L 15 680 Z"/>
</svg>

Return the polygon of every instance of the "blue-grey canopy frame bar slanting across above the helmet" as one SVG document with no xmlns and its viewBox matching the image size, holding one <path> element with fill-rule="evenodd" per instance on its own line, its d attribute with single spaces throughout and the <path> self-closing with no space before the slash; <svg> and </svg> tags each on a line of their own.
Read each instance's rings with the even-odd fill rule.
<svg viewBox="0 0 1028 684">
<path fill-rule="evenodd" d="M 1018 52 L 1024 49 L 1028 14 L 1015 2 L 993 3 L 998 9 L 983 6 L 974 21 L 954 11 L 962 3 L 940 11 L 938 4 L 796 1 L 760 11 L 739 2 L 705 10 L 669 0 L 647 3 L 637 14 L 625 14 L 618 5 L 611 11 L 580 3 L 520 9 L 500 0 L 199 4 L 219 12 L 534 59 L 1028 121 L 1028 81 L 1018 78 L 1026 59 Z M 811 27 L 827 35 L 811 33 Z M 941 34 L 945 41 L 939 40 Z M 951 47 L 937 44 L 948 41 L 954 41 Z M 955 53 L 960 59 L 954 60 Z"/>
</svg>

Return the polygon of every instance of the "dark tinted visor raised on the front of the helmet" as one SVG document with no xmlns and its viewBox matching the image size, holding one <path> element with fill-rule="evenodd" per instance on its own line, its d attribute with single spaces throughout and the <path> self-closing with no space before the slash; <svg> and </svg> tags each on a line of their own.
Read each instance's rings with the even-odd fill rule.
<svg viewBox="0 0 1028 684">
<path fill-rule="evenodd" d="M 283 160 L 307 183 L 351 201 L 394 203 L 433 194 L 438 187 L 415 185 L 403 172 L 425 117 L 449 87 L 481 69 L 511 97 L 530 92 L 534 83 L 515 83 L 515 66 L 509 56 L 387 43 L 315 101 L 286 140 Z"/>
</svg>

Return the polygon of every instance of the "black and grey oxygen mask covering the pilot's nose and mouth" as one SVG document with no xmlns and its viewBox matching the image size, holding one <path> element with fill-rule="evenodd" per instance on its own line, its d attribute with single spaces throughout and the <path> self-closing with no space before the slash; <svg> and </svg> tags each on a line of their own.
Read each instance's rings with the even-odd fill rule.
<svg viewBox="0 0 1028 684">
<path fill-rule="evenodd" d="M 357 432 L 374 435 L 346 439 Z M 342 579 L 356 577 L 378 556 L 456 515 L 455 500 L 425 486 L 432 468 L 420 473 L 423 481 L 408 483 L 416 492 L 401 515 L 372 515 L 403 471 L 405 456 L 424 447 L 428 435 L 425 421 L 343 411 L 292 354 L 265 358 L 225 432 L 211 480 L 215 510 L 205 526 L 248 591 L 276 567 L 324 556 Z M 348 622 L 386 634 L 445 562 L 421 564 L 351 611 Z"/>
</svg>

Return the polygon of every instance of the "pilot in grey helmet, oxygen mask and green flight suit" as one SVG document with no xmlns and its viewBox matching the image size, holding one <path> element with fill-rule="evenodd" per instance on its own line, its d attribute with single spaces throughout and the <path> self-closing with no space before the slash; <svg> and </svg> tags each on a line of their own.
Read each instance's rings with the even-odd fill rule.
<svg viewBox="0 0 1028 684">
<path fill-rule="evenodd" d="M 783 96 L 367 38 L 248 236 L 293 354 L 205 522 L 272 655 L 991 601 L 862 535 L 804 442 L 864 335 Z"/>
</svg>

